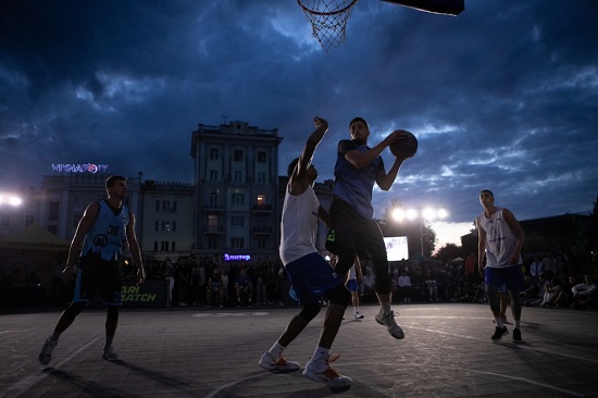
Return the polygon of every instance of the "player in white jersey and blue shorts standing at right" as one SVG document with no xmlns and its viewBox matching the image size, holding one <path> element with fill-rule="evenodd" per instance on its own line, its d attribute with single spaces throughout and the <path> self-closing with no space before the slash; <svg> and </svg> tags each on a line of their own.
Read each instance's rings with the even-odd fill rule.
<svg viewBox="0 0 598 398">
<path fill-rule="evenodd" d="M 484 211 L 475 219 L 477 226 L 477 263 L 486 285 L 486 295 L 496 322 L 493 341 L 498 341 L 509 334 L 504 326 L 498 298 L 498 287 L 506 285 L 511 297 L 511 312 L 514 320 L 513 343 L 521 343 L 521 298 L 519 293 L 525 287 L 521 249 L 525 233 L 513 213 L 508 209 L 497 208 L 490 190 L 479 192 L 479 203 Z M 486 259 L 486 266 L 484 266 Z"/>
</svg>

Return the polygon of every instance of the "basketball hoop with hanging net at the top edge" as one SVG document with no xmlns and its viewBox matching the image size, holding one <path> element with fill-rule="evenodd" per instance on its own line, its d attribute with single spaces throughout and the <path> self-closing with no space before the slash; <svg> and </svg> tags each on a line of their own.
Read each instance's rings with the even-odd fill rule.
<svg viewBox="0 0 598 398">
<path fill-rule="evenodd" d="M 312 36 L 327 52 L 345 42 L 347 20 L 358 0 L 297 0 L 312 26 Z M 304 4 L 303 4 L 304 3 Z"/>
</svg>

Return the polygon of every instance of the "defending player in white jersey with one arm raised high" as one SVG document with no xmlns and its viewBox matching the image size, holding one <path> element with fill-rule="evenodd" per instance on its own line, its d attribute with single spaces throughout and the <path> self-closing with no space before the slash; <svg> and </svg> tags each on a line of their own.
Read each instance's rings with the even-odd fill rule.
<svg viewBox="0 0 598 398">
<path fill-rule="evenodd" d="M 311 165 L 311 160 L 315 148 L 328 130 L 328 122 L 315 116 L 314 124 L 316 128 L 308 138 L 301 157 L 288 166 L 289 182 L 283 206 L 279 248 L 281 259 L 299 299 L 301 311 L 290 320 L 270 350 L 262 355 L 259 364 L 269 371 L 298 370 L 300 364 L 287 361 L 283 351 L 317 315 L 321 310 L 320 301 L 326 297 L 329 303 L 324 314 L 320 340 L 312 359 L 306 364 L 303 375 L 331 387 L 345 387 L 352 380 L 331 366 L 329 362 L 338 357 L 331 358 L 329 350 L 340 327 L 342 314 L 351 300 L 351 294 L 341 276 L 337 275 L 315 248 L 317 220 L 327 222 L 328 214 L 320 206 L 312 188 L 317 172 Z"/>
</svg>

